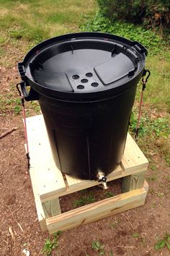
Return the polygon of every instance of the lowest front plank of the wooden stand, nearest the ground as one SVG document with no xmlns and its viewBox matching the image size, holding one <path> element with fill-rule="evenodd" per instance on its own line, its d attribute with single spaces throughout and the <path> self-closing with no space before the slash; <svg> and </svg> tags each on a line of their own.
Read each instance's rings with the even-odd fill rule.
<svg viewBox="0 0 170 256">
<path fill-rule="evenodd" d="M 135 189 L 115 197 L 110 197 L 81 208 L 70 210 L 61 215 L 48 218 L 46 224 L 50 234 L 55 231 L 66 231 L 82 224 L 112 216 L 124 210 L 143 205 L 146 200 L 146 189 Z"/>
</svg>

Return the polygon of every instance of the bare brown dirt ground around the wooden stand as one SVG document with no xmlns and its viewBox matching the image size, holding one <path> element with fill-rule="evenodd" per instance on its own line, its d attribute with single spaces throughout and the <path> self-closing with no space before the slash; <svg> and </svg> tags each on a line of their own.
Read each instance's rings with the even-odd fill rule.
<svg viewBox="0 0 170 256">
<path fill-rule="evenodd" d="M 12 69 L 10 77 L 1 70 L 1 94 L 10 90 L 10 82 L 17 82 L 17 69 Z M 14 92 L 17 97 L 17 92 Z M 34 114 L 30 112 L 30 114 Z M 0 140 L 0 255 L 24 255 L 24 243 L 30 255 L 41 255 L 48 233 L 42 233 L 37 221 L 35 202 L 32 194 L 27 161 L 24 153 L 24 129 L 22 113 L 15 115 L 9 111 L 0 115 L 0 135 L 12 127 L 17 129 Z M 152 150 L 146 155 L 155 170 L 149 168 L 149 192 L 146 204 L 118 213 L 115 216 L 65 231 L 58 239 L 58 249 L 53 255 L 94 256 L 99 255 L 92 249 L 92 242 L 104 244 L 105 255 L 169 255 L 167 248 L 156 252 L 154 244 L 170 231 L 170 179 L 166 162 Z M 71 195 L 69 196 L 71 197 Z M 74 200 L 75 195 L 72 195 Z M 68 204 L 66 198 L 64 204 Z M 9 230 L 12 229 L 14 237 Z M 133 234 L 137 233 L 138 237 Z"/>
</svg>

